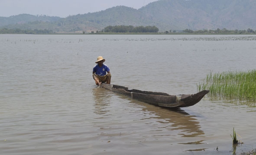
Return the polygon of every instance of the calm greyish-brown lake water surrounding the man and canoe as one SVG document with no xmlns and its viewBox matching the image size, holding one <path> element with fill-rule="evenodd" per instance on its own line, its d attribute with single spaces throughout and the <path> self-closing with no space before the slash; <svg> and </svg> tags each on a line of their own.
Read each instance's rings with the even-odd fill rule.
<svg viewBox="0 0 256 155">
<path fill-rule="evenodd" d="M 256 103 L 207 95 L 165 109 L 92 79 L 98 56 L 112 84 L 197 92 L 210 72 L 256 69 L 255 35 L 0 35 L 1 155 L 230 155 L 256 148 Z M 233 127 L 243 144 L 232 145 Z M 217 150 L 218 148 L 218 150 Z"/>
</svg>

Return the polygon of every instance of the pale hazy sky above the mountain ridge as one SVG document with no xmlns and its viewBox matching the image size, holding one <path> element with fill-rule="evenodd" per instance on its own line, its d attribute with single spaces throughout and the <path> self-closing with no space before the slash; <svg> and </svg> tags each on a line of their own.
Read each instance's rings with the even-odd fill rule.
<svg viewBox="0 0 256 155">
<path fill-rule="evenodd" d="M 27 13 L 67 17 L 94 13 L 113 6 L 128 6 L 139 9 L 157 0 L 0 0 L 0 16 L 9 17 Z"/>
</svg>

